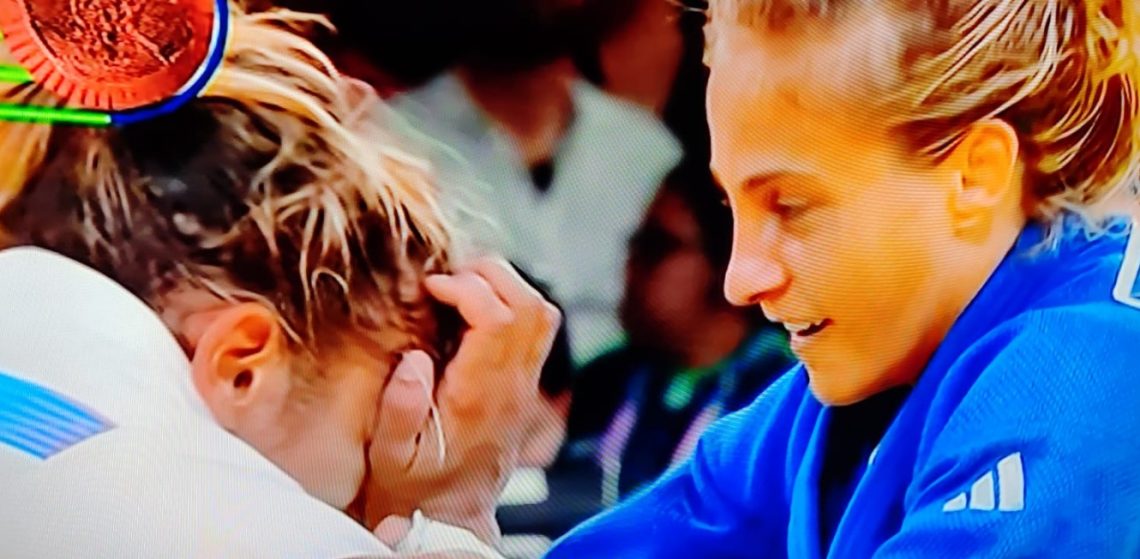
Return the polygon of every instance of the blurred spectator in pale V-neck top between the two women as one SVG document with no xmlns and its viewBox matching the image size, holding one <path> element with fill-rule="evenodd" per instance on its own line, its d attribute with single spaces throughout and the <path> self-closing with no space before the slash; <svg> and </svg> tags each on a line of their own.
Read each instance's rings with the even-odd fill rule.
<svg viewBox="0 0 1140 559">
<path fill-rule="evenodd" d="M 446 14 L 467 26 L 458 65 L 393 106 L 427 139 L 462 229 L 551 286 L 585 363 L 620 342 L 625 240 L 679 144 L 572 62 L 625 17 L 625 2 L 459 3 L 478 9 Z"/>
</svg>

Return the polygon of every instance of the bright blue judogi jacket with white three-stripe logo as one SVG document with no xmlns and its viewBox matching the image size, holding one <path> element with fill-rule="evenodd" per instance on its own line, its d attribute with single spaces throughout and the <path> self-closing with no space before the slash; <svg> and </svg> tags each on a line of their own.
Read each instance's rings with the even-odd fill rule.
<svg viewBox="0 0 1140 559">
<path fill-rule="evenodd" d="M 1140 311 L 1113 298 L 1117 276 L 1135 280 L 1119 273 L 1126 228 L 1069 230 L 1031 252 L 1041 240 L 1026 229 L 849 497 L 837 493 L 846 512 L 826 556 L 820 478 L 837 410 L 797 366 L 714 426 L 687 463 L 546 557 L 1140 557 Z M 1001 510 L 1017 493 L 997 471 L 1012 456 L 1024 503 Z"/>
</svg>

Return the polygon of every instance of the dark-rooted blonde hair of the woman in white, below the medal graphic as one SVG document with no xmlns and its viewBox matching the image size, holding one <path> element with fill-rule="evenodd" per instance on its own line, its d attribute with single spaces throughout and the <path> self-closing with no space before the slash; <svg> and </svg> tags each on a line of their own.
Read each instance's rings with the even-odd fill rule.
<svg viewBox="0 0 1140 559">
<path fill-rule="evenodd" d="M 447 270 L 453 237 L 429 170 L 381 128 L 376 95 L 301 37 L 312 24 L 234 8 L 207 90 L 154 121 L 0 122 L 9 242 L 89 264 L 158 310 L 187 286 L 263 302 L 306 348 L 345 327 L 442 345 L 450 315 L 422 278 Z M 26 84 L 0 100 L 52 103 Z"/>
</svg>

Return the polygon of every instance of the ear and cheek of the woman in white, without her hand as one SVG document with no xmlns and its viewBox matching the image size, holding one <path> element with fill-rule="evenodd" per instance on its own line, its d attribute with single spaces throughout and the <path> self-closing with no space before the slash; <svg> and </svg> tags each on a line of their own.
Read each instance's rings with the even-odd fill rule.
<svg viewBox="0 0 1140 559">
<path fill-rule="evenodd" d="M 288 348 L 278 324 L 258 303 L 193 314 L 186 338 L 195 387 L 223 428 L 344 509 L 364 481 L 365 448 L 394 366 L 381 348 L 405 337 L 345 335 L 312 364 Z"/>
</svg>

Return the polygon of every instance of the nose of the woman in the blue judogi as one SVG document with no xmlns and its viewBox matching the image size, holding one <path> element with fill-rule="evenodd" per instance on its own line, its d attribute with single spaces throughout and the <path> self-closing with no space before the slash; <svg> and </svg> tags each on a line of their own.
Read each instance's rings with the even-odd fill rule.
<svg viewBox="0 0 1140 559">
<path fill-rule="evenodd" d="M 758 305 L 787 283 L 788 270 L 779 257 L 775 236 L 738 225 L 724 281 L 724 295 L 728 302 L 736 306 Z"/>
</svg>

